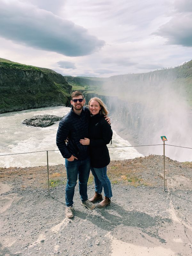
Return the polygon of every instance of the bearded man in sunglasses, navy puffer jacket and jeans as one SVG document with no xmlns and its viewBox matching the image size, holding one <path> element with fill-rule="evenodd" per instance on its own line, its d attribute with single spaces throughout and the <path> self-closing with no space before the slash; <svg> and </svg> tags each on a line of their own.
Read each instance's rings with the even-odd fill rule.
<svg viewBox="0 0 192 256">
<path fill-rule="evenodd" d="M 65 158 L 65 166 L 67 170 L 65 196 L 67 206 L 65 216 L 67 218 L 73 217 L 73 196 L 77 183 L 77 176 L 79 178 L 81 204 L 89 210 L 95 208 L 95 205 L 88 200 L 87 196 L 87 182 L 90 173 L 89 147 L 84 146 L 79 142 L 81 139 L 88 137 L 90 112 L 88 108 L 84 107 L 84 103 L 85 99 L 81 92 L 75 91 L 72 93 L 72 108 L 60 121 L 57 131 L 56 144 L 61 155 Z M 67 138 L 69 140 L 66 144 L 65 140 Z"/>
</svg>

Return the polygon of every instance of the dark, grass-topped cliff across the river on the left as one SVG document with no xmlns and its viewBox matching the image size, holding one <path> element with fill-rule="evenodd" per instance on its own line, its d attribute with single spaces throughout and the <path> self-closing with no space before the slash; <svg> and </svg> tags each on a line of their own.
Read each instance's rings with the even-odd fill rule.
<svg viewBox="0 0 192 256">
<path fill-rule="evenodd" d="M 51 69 L 0 58 L 0 113 L 69 106 L 72 86 Z"/>
</svg>

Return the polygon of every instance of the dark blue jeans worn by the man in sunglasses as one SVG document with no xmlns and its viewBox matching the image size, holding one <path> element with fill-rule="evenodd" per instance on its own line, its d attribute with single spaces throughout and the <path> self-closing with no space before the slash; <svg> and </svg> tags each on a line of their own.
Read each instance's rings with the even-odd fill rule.
<svg viewBox="0 0 192 256">
<path fill-rule="evenodd" d="M 87 196 L 87 182 L 90 173 L 90 158 L 85 160 L 68 161 L 65 159 L 65 166 L 67 170 L 67 186 L 65 200 L 67 207 L 73 205 L 73 196 L 75 192 L 75 186 L 77 184 L 77 176 L 79 178 L 79 194 L 81 200 L 85 201 L 88 199 Z"/>
</svg>

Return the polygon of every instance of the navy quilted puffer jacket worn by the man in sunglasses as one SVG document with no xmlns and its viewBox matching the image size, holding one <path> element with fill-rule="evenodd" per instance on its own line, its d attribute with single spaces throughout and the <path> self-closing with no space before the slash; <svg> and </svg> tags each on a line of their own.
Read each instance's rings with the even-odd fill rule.
<svg viewBox="0 0 192 256">
<path fill-rule="evenodd" d="M 79 142 L 81 139 L 88 138 L 89 120 L 90 112 L 86 107 L 83 107 L 81 115 L 75 114 L 72 107 L 71 111 L 61 119 L 56 144 L 64 158 L 73 155 L 79 160 L 84 160 L 89 156 L 89 146 Z M 69 142 L 66 144 L 67 138 Z"/>
</svg>

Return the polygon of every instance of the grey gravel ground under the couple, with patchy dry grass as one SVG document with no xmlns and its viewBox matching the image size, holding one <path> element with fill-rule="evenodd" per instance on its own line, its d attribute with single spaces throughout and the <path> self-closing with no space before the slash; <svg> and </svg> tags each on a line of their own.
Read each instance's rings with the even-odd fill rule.
<svg viewBox="0 0 192 256">
<path fill-rule="evenodd" d="M 48 196 L 46 167 L 0 168 L 0 255 L 192 254 L 191 163 L 166 158 L 163 192 L 162 156 L 112 161 L 111 205 L 88 210 L 76 186 L 72 219 L 65 218 L 63 169 L 50 167 Z"/>
</svg>

